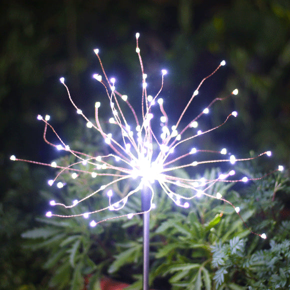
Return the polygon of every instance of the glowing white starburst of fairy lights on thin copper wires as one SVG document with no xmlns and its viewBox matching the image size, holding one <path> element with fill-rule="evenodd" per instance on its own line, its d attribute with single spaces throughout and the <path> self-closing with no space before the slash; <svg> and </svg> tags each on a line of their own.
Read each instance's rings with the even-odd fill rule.
<svg viewBox="0 0 290 290">
<path fill-rule="evenodd" d="M 181 168 L 190 168 L 196 167 L 200 164 L 207 164 L 207 163 L 221 163 L 227 162 L 229 164 L 234 164 L 237 161 L 244 161 L 256 158 L 261 155 L 271 155 L 270 151 L 266 151 L 263 153 L 258 154 L 256 157 L 250 158 L 236 158 L 234 155 L 229 154 L 226 148 L 221 148 L 220 150 L 205 150 L 195 147 L 190 147 L 192 144 L 192 140 L 194 138 L 198 138 L 200 135 L 208 133 L 212 130 L 215 130 L 222 126 L 225 122 L 227 122 L 231 117 L 236 117 L 237 112 L 231 112 L 222 123 L 219 125 L 209 128 L 207 130 L 202 131 L 198 129 L 198 119 L 203 114 L 208 114 L 210 111 L 210 107 L 212 104 L 218 100 L 223 100 L 224 98 L 215 98 L 213 99 L 210 104 L 205 107 L 196 117 L 194 117 L 190 122 L 185 125 L 181 126 L 181 119 L 188 110 L 190 103 L 192 102 L 193 98 L 198 94 L 198 89 L 202 85 L 202 83 L 214 74 L 221 66 L 225 65 L 225 61 L 222 60 L 220 64 L 217 66 L 215 70 L 213 70 L 208 76 L 204 77 L 197 88 L 194 90 L 192 96 L 188 100 L 186 106 L 184 107 L 183 111 L 181 112 L 177 121 L 172 123 L 172 120 L 169 119 L 169 116 L 166 114 L 164 107 L 163 107 L 163 99 L 159 97 L 160 92 L 163 87 L 163 79 L 164 75 L 167 73 L 165 69 L 161 70 L 160 75 L 160 89 L 158 92 L 152 96 L 147 94 L 147 82 L 146 77 L 147 74 L 144 73 L 143 63 L 140 55 L 140 48 L 138 46 L 138 37 L 139 33 L 136 33 L 136 53 L 139 58 L 140 68 L 141 68 L 141 75 L 142 75 L 142 93 L 140 97 L 140 115 L 138 116 L 135 109 L 129 102 L 129 97 L 125 94 L 121 94 L 116 90 L 116 80 L 115 78 L 108 78 L 105 70 L 103 68 L 101 59 L 99 57 L 99 50 L 94 49 L 94 52 L 99 60 L 102 74 L 93 74 L 93 78 L 95 78 L 104 88 L 104 91 L 107 95 L 107 99 L 110 105 L 110 116 L 108 117 L 107 121 L 111 125 L 115 125 L 118 130 L 119 134 L 113 134 L 113 132 L 106 131 L 100 123 L 99 120 L 99 110 L 101 109 L 101 103 L 99 101 L 95 102 L 95 122 L 90 121 L 82 110 L 73 102 L 68 87 L 64 82 L 64 78 L 60 78 L 60 82 L 65 86 L 68 97 L 74 108 L 76 109 L 76 113 L 80 114 L 86 121 L 86 126 L 88 128 L 95 129 L 98 133 L 101 134 L 104 143 L 110 148 L 110 153 L 106 155 L 99 155 L 99 156 L 90 156 L 83 152 L 78 152 L 75 150 L 70 149 L 70 147 L 65 144 L 59 135 L 56 133 L 54 128 L 48 123 L 50 117 L 46 115 L 42 117 L 41 115 L 37 116 L 38 120 L 44 122 L 44 133 L 43 138 L 46 143 L 55 147 L 57 150 L 64 150 L 76 157 L 76 162 L 70 164 L 69 166 L 60 166 L 55 161 L 50 164 L 41 163 L 31 160 L 24 160 L 18 159 L 14 155 L 10 156 L 11 160 L 18 160 L 18 161 L 26 161 L 40 165 L 47 165 L 50 167 L 60 169 L 56 177 L 52 180 L 48 180 L 48 184 L 52 185 L 58 178 L 58 176 L 64 171 L 71 171 L 71 178 L 75 179 L 78 177 L 79 173 L 87 173 L 90 174 L 92 178 L 96 176 L 106 176 L 111 177 L 111 181 L 102 184 L 97 190 L 92 193 L 87 194 L 80 200 L 73 200 L 71 204 L 63 204 L 58 203 L 54 200 L 50 201 L 51 206 L 63 206 L 65 208 L 71 208 L 77 206 L 80 202 L 92 197 L 93 195 L 101 192 L 105 192 L 108 198 L 108 204 L 104 208 L 98 208 L 90 212 L 84 212 L 81 214 L 71 214 L 71 215 L 61 215 L 54 213 L 52 211 L 48 211 L 46 216 L 60 216 L 60 217 L 74 217 L 74 216 L 83 216 L 84 218 L 89 218 L 93 216 L 93 213 L 100 212 L 103 210 L 113 210 L 118 211 L 119 209 L 123 208 L 126 205 L 128 198 L 136 193 L 137 191 L 144 190 L 146 187 L 146 191 L 150 194 L 150 207 L 146 211 L 150 211 L 154 207 L 153 198 L 154 198 L 154 189 L 152 183 L 158 184 L 164 193 L 172 200 L 173 203 L 180 207 L 187 208 L 190 206 L 190 200 L 195 197 L 200 197 L 201 195 L 210 196 L 212 198 L 216 198 L 222 200 L 224 202 L 229 203 L 231 206 L 234 207 L 235 211 L 239 212 L 239 207 L 235 207 L 231 202 L 224 199 L 219 192 L 216 192 L 216 195 L 210 195 L 207 193 L 207 190 L 213 186 L 216 182 L 247 182 L 250 180 L 249 177 L 243 176 L 239 179 L 234 179 L 232 176 L 235 175 L 235 171 L 233 169 L 229 169 L 227 172 L 216 176 L 215 179 L 207 180 L 205 178 L 181 178 L 178 177 L 178 174 L 174 172 Z M 236 95 L 238 90 L 235 88 L 231 92 L 231 94 Z M 123 113 L 124 110 L 121 107 L 125 103 L 128 106 L 128 110 L 134 120 L 134 123 L 128 123 L 128 117 L 126 117 Z M 153 106 L 159 107 L 159 116 L 156 117 L 152 113 Z M 154 110 L 155 111 L 155 110 Z M 59 140 L 59 144 L 53 144 L 46 139 L 46 130 L 50 127 L 51 130 L 54 132 L 56 137 Z M 115 132 L 115 131 L 114 131 Z M 180 146 L 182 143 L 185 143 L 188 150 L 184 152 L 184 146 Z M 182 148 L 182 149 L 181 149 Z M 180 153 L 180 151 L 183 151 Z M 200 158 L 194 158 L 198 153 L 210 153 L 213 156 L 218 156 L 215 159 L 209 160 L 201 160 Z M 90 164 L 92 165 L 93 170 L 80 170 L 75 168 L 75 165 L 82 163 L 83 165 Z M 277 170 L 282 170 L 282 166 L 279 165 Z M 114 173 L 112 173 L 114 172 Z M 263 178 L 263 177 L 260 177 Z M 258 178 L 258 179 L 260 179 Z M 137 185 L 122 198 L 117 201 L 112 201 L 113 191 L 112 185 L 117 183 L 121 180 L 128 180 L 133 179 L 137 180 Z M 61 181 L 56 182 L 56 186 L 58 188 L 62 188 L 65 186 L 64 183 Z M 172 189 L 176 186 L 186 189 L 187 191 L 190 190 L 191 195 L 181 195 L 180 193 L 175 193 Z M 143 212 L 146 212 L 143 211 Z M 116 218 L 120 216 L 127 216 L 131 218 L 135 214 L 143 213 L 129 213 L 125 215 L 118 215 L 114 217 L 109 217 L 103 220 L 95 221 L 91 220 L 90 225 L 95 226 L 97 223 L 102 222 L 104 220 L 108 220 L 111 218 Z M 238 213 L 239 214 L 239 213 Z M 265 238 L 265 234 L 258 234 L 262 238 Z"/>
</svg>

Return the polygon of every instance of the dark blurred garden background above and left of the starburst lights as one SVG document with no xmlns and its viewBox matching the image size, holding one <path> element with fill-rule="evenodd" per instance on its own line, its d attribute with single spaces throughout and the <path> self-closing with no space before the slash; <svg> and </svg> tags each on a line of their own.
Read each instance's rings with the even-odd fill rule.
<svg viewBox="0 0 290 290">
<path fill-rule="evenodd" d="M 0 31 L 0 284 L 10 276 L 20 283 L 41 276 L 41 257 L 31 264 L 20 234 L 45 212 L 38 192 L 51 174 L 47 168 L 12 163 L 9 156 L 41 162 L 57 157 L 42 139 L 37 114 L 50 114 L 64 140 L 81 138 L 59 77 L 93 116 L 92 104 L 106 97 L 91 77 L 100 72 L 94 48 L 118 90 L 137 98 L 139 32 L 148 91 L 159 89 L 160 70 L 166 68 L 162 97 L 173 118 L 224 59 L 227 65 L 206 80 L 189 112 L 195 116 L 214 97 L 238 88 L 237 96 L 214 106 L 207 121 L 218 124 L 233 109 L 239 116 L 210 134 L 206 146 L 220 144 L 239 155 L 270 149 L 273 157 L 264 162 L 265 171 L 289 165 L 288 0 L 9 0 L 0 2 Z"/>
</svg>

